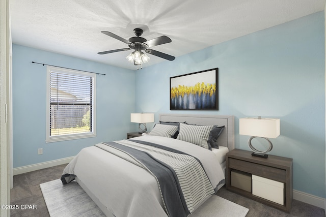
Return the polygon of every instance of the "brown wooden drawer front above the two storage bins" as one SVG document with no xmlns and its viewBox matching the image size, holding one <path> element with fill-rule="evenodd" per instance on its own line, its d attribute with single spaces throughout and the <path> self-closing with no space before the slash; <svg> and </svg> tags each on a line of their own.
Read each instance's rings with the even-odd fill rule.
<svg viewBox="0 0 326 217">
<path fill-rule="evenodd" d="M 247 173 L 256 174 L 265 178 L 280 182 L 286 182 L 286 170 L 255 164 L 248 161 L 229 158 L 229 168 L 240 170 Z"/>
</svg>

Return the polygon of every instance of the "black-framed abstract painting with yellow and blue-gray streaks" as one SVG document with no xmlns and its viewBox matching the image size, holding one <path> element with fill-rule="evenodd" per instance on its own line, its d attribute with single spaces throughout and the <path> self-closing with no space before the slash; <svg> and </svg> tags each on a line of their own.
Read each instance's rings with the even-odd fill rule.
<svg viewBox="0 0 326 217">
<path fill-rule="evenodd" d="M 170 77 L 170 110 L 219 110 L 219 68 Z"/>
</svg>

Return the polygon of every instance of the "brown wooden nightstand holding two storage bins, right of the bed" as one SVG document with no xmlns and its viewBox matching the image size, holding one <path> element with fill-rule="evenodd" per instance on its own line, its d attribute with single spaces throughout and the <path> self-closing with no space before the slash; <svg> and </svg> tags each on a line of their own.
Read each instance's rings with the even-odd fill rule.
<svg viewBox="0 0 326 217">
<path fill-rule="evenodd" d="M 290 212 L 293 199 L 293 160 L 270 154 L 268 154 L 268 158 L 264 159 L 253 157 L 251 153 L 252 151 L 233 149 L 226 154 L 226 189 L 260 203 Z M 234 179 L 237 178 L 234 174 L 238 171 L 239 173 L 247 173 L 249 177 L 252 177 L 251 192 L 232 185 L 231 171 L 233 171 Z M 280 193 L 274 193 L 273 188 L 276 188 L 274 183 L 281 184 Z M 260 191 L 259 193 L 263 192 L 262 195 L 265 194 L 266 196 L 257 196 L 259 195 L 256 193 L 257 189 L 258 192 Z M 269 198 L 270 191 L 273 194 L 278 194 L 277 196 L 281 197 L 282 202 L 271 201 L 272 199 Z"/>
</svg>

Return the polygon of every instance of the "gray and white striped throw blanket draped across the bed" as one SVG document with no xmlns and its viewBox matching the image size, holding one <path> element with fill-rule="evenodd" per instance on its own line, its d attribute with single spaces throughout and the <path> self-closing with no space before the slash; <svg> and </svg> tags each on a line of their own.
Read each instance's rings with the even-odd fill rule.
<svg viewBox="0 0 326 217">
<path fill-rule="evenodd" d="M 153 175 L 168 216 L 187 216 L 214 189 L 201 162 L 181 151 L 154 143 L 121 140 L 95 145 Z"/>
</svg>

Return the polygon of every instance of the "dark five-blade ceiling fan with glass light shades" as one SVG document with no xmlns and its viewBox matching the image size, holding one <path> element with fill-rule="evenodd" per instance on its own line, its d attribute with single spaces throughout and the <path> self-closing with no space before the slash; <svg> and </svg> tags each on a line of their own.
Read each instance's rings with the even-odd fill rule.
<svg viewBox="0 0 326 217">
<path fill-rule="evenodd" d="M 147 61 L 150 59 L 150 57 L 147 56 L 144 52 L 142 52 L 142 50 L 144 50 L 146 53 L 149 53 L 154 56 L 158 56 L 158 57 L 170 60 L 170 61 L 175 59 L 174 56 L 151 49 L 151 47 L 172 42 L 171 39 L 167 36 L 160 36 L 155 39 L 151 39 L 151 40 L 147 41 L 146 39 L 140 37 L 143 34 L 143 29 L 141 29 L 141 28 L 133 29 L 133 33 L 136 36 L 131 37 L 129 40 L 121 38 L 120 36 L 117 36 L 111 32 L 101 31 L 101 33 L 126 43 L 129 46 L 129 48 L 108 50 L 108 51 L 98 52 L 98 54 L 107 54 L 107 53 L 114 53 L 114 52 L 134 49 L 134 51 L 132 53 L 130 53 L 128 56 L 126 56 L 126 59 L 129 60 L 131 63 L 133 63 L 136 66 L 142 65 L 143 63 L 147 63 Z"/>
</svg>

